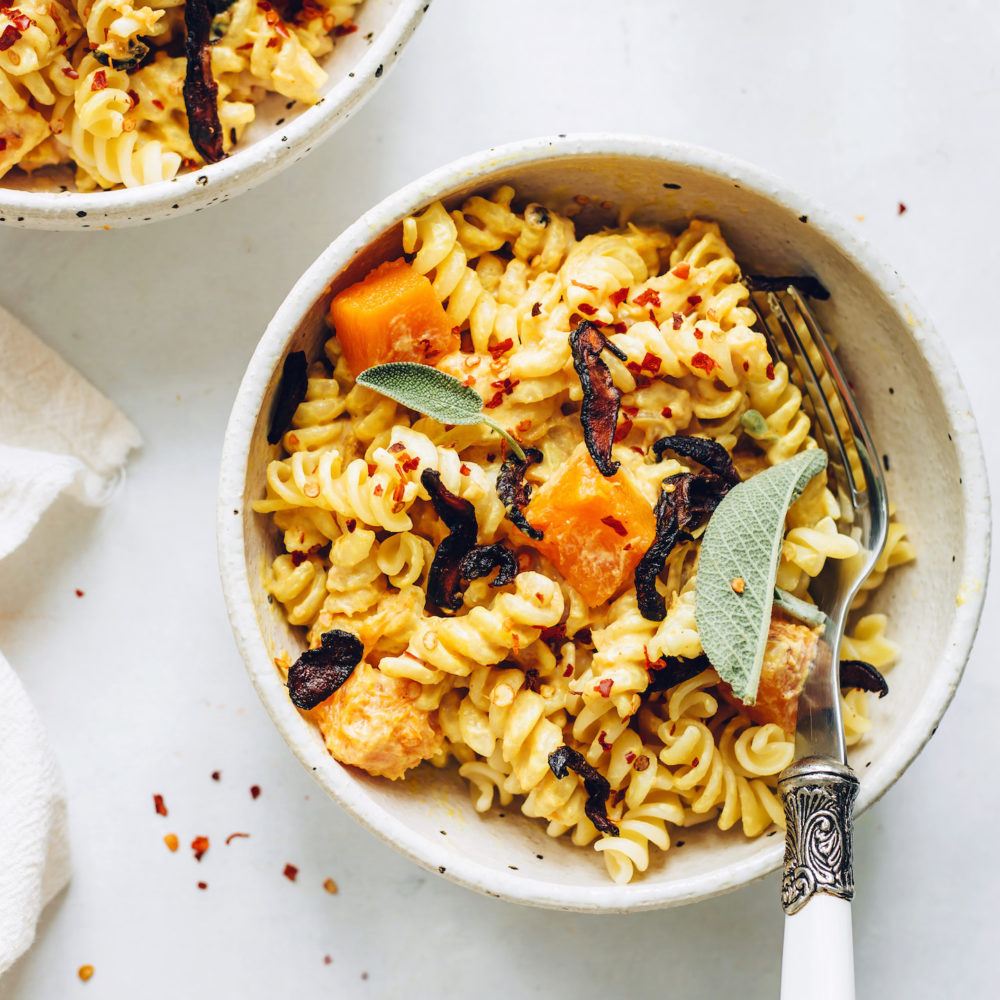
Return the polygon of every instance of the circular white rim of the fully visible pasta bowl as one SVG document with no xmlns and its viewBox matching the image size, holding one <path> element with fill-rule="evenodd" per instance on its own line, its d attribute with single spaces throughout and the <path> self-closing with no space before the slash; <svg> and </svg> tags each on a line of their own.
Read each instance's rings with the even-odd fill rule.
<svg viewBox="0 0 1000 1000">
<path fill-rule="evenodd" d="M 487 186 L 491 182 L 499 183 L 500 178 L 493 175 L 503 170 L 542 160 L 602 155 L 648 158 L 667 166 L 698 169 L 752 189 L 791 212 L 793 217 L 808 215 L 810 225 L 818 228 L 851 263 L 866 271 L 892 303 L 897 315 L 910 329 L 913 343 L 941 393 L 953 421 L 952 438 L 964 483 L 962 565 L 965 580 L 978 582 L 979 586 L 973 586 L 964 603 L 955 609 L 945 655 L 931 683 L 924 689 L 917 712 L 910 717 L 904 738 L 894 744 L 890 753 L 876 761 L 878 766 L 873 765 L 866 772 L 857 811 L 866 809 L 888 790 L 936 731 L 961 679 L 982 613 L 991 533 L 989 485 L 982 444 L 955 364 L 899 275 L 881 261 L 867 242 L 846 229 L 822 205 L 795 193 L 773 175 L 728 154 L 687 143 L 621 133 L 533 138 L 461 157 L 405 185 L 365 212 L 320 254 L 295 284 L 268 324 L 249 362 L 223 445 L 218 546 L 226 605 L 250 678 L 292 752 L 343 809 L 411 860 L 467 888 L 512 902 L 614 913 L 679 905 L 742 887 L 780 865 L 783 844 L 772 842 L 750 858 L 668 884 L 646 884 L 639 880 L 626 885 L 567 886 L 544 879 L 515 877 L 458 856 L 414 833 L 391 812 L 372 803 L 346 776 L 341 765 L 318 746 L 288 700 L 257 624 L 244 556 L 242 512 L 251 435 L 272 373 L 281 362 L 288 340 L 298 329 L 306 310 L 355 254 L 406 215 L 436 198 L 447 196 L 471 178 L 481 176 L 483 185 Z"/>
</svg>

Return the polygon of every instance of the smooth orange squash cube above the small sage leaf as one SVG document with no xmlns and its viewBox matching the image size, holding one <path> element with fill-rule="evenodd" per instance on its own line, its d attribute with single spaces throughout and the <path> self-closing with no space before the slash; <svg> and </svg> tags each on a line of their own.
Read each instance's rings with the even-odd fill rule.
<svg viewBox="0 0 1000 1000">
<path fill-rule="evenodd" d="M 402 258 L 335 295 L 330 324 L 355 376 L 387 361 L 432 365 L 461 343 L 430 281 Z"/>
</svg>

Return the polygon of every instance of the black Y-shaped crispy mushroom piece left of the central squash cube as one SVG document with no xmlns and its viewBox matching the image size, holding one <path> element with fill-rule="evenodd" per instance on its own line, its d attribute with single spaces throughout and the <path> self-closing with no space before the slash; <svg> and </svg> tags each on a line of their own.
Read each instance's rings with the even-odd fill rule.
<svg viewBox="0 0 1000 1000">
<path fill-rule="evenodd" d="M 476 545 L 479 524 L 475 507 L 452 493 L 435 469 L 424 469 L 420 482 L 430 495 L 435 513 L 449 530 L 434 553 L 427 574 L 427 596 L 439 608 L 457 611 L 462 606 L 463 582 L 478 580 L 499 568 L 490 586 L 512 583 L 520 568 L 517 556 L 503 542 Z"/>
</svg>

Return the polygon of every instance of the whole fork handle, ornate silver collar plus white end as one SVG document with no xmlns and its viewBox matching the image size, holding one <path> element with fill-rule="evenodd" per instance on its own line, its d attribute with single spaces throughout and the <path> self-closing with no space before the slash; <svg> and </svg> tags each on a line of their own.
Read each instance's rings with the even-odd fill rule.
<svg viewBox="0 0 1000 1000">
<path fill-rule="evenodd" d="M 778 791 L 786 825 L 781 1000 L 853 1000 L 858 779 L 839 761 L 807 757 L 782 773 Z"/>
</svg>

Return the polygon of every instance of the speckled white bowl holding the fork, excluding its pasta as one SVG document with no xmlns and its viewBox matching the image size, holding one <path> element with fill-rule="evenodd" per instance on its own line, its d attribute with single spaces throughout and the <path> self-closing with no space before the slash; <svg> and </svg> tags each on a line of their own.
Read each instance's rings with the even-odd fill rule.
<svg viewBox="0 0 1000 1000">
<path fill-rule="evenodd" d="M 890 576 L 873 608 L 891 615 L 903 645 L 875 726 L 852 753 L 860 809 L 871 805 L 933 734 L 975 635 L 988 569 L 990 516 L 975 422 L 940 340 L 900 278 L 822 208 L 728 156 L 616 135 L 531 140 L 459 160 L 410 184 L 362 216 L 306 272 L 271 321 L 247 369 L 226 432 L 219 496 L 219 556 L 226 601 L 247 669 L 288 745 L 351 815 L 424 867 L 490 895 L 564 909 L 615 912 L 704 899 L 775 869 L 782 838 L 746 840 L 711 824 L 680 834 L 683 847 L 654 853 L 649 871 L 612 884 L 596 852 L 551 840 L 516 806 L 478 815 L 457 776 L 426 768 L 389 782 L 345 768 L 295 710 L 272 657 L 292 658 L 302 637 L 262 586 L 279 550 L 263 493 L 276 449 L 265 440 L 285 355 L 321 353 L 331 294 L 398 253 L 401 220 L 435 198 L 456 204 L 513 184 L 524 199 L 589 196 L 632 218 L 682 226 L 716 219 L 738 259 L 771 274 L 809 272 L 832 292 L 817 305 L 836 332 L 876 444 L 889 456 L 890 495 L 919 552 Z M 928 489 L 932 475 L 934 489 Z M 506 818 L 499 813 L 506 812 Z M 777 891 L 777 887 L 775 887 Z"/>
</svg>

